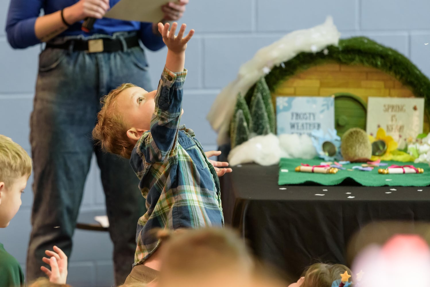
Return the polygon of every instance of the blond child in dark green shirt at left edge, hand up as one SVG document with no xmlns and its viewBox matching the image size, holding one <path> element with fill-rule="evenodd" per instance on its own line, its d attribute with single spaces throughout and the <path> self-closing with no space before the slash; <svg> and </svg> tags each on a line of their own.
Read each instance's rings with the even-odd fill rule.
<svg viewBox="0 0 430 287">
<path fill-rule="evenodd" d="M 32 161 L 28 153 L 11 138 L 0 134 L 0 228 L 9 225 L 21 206 L 21 195 L 27 186 L 32 171 Z M 67 278 L 67 257 L 54 246 L 54 251 L 46 250 L 43 261 L 51 270 L 41 267 L 53 283 L 63 284 Z M 25 283 L 24 273 L 18 261 L 0 243 L 0 286 L 15 287 Z"/>
</svg>

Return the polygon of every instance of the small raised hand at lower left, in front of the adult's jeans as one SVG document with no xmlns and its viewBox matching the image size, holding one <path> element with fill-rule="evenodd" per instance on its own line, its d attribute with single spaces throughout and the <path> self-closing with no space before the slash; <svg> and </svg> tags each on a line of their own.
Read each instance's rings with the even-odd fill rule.
<svg viewBox="0 0 430 287">
<path fill-rule="evenodd" d="M 41 266 L 40 270 L 45 272 L 49 277 L 49 282 L 55 284 L 66 284 L 67 279 L 67 256 L 63 250 L 54 246 L 54 251 L 45 250 L 45 254 L 50 258 L 43 257 L 44 263 L 51 266 L 51 270 L 45 266 Z"/>
</svg>

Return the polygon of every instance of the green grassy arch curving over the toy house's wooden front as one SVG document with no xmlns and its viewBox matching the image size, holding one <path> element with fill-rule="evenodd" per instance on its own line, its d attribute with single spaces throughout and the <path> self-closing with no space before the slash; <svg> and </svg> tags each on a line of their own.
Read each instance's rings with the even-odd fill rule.
<svg viewBox="0 0 430 287">
<path fill-rule="evenodd" d="M 283 65 L 273 67 L 266 75 L 267 85 L 274 92 L 290 77 L 310 67 L 330 62 L 377 68 L 408 86 L 415 96 L 424 97 L 426 108 L 430 107 L 430 79 L 404 55 L 366 37 L 341 39 L 338 46 L 328 46 L 325 51 L 318 53 L 302 52 Z"/>
</svg>

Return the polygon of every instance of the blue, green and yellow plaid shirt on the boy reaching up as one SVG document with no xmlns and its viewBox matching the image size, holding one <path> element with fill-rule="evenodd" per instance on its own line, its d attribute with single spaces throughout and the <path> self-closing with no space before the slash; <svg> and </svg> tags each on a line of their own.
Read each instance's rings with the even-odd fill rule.
<svg viewBox="0 0 430 287">
<path fill-rule="evenodd" d="M 161 75 L 151 130 L 138 140 L 130 164 L 140 179 L 147 212 L 139 219 L 135 263 L 160 244 L 153 228 L 223 226 L 219 180 L 194 132 L 179 126 L 187 70 Z"/>
</svg>

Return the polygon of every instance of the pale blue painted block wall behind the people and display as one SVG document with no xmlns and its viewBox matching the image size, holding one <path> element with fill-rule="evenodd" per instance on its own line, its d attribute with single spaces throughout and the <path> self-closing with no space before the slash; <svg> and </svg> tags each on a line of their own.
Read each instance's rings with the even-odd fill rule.
<svg viewBox="0 0 430 287">
<path fill-rule="evenodd" d="M 0 1 L 0 134 L 12 137 L 29 152 L 28 122 L 41 48 L 9 47 L 4 32 L 8 5 L 8 0 Z M 215 96 L 236 77 L 240 64 L 290 31 L 321 24 L 327 15 L 333 16 L 342 37 L 370 37 L 403 53 L 430 76 L 430 45 L 424 45 L 430 43 L 429 11 L 427 0 L 190 0 L 182 21 L 195 28 L 196 34 L 187 49 L 182 122 L 194 129 L 206 150 L 215 149 L 216 134 L 206 114 Z M 156 87 L 166 49 L 147 56 Z M 31 183 L 32 178 L 20 211 L 8 228 L 0 230 L 0 242 L 23 267 L 30 233 Z M 103 206 L 98 168 L 93 164 L 81 210 Z M 69 283 L 111 286 L 111 251 L 107 233 L 77 230 Z"/>
</svg>

